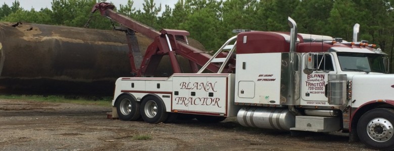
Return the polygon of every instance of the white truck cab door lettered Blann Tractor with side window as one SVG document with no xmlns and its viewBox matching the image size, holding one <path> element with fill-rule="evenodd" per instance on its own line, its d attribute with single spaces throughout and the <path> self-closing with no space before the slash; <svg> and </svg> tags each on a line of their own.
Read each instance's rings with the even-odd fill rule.
<svg viewBox="0 0 394 151">
<path fill-rule="evenodd" d="M 301 105 L 328 105 L 328 74 L 336 73 L 331 53 L 306 53 L 303 59 Z"/>
</svg>

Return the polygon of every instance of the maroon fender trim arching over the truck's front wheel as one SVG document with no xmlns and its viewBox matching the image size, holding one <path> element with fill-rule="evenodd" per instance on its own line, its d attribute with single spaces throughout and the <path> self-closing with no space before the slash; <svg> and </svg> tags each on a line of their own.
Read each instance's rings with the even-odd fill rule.
<svg viewBox="0 0 394 151">
<path fill-rule="evenodd" d="M 394 107 L 394 100 L 373 100 L 369 101 L 367 103 L 364 103 L 360 107 L 358 107 L 354 112 L 352 112 L 351 117 L 350 117 L 350 122 L 349 122 L 349 131 L 352 131 L 352 123 L 353 119 L 355 119 L 356 124 L 358 119 L 361 117 L 361 115 L 371 109 L 379 108 L 381 106 L 386 106 L 386 107 Z"/>
</svg>

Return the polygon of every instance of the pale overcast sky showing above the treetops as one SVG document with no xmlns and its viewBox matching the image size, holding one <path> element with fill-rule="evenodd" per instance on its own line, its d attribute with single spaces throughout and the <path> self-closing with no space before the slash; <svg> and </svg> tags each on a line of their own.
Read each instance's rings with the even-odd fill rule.
<svg viewBox="0 0 394 151">
<path fill-rule="evenodd" d="M 156 7 L 159 7 L 159 5 L 162 4 L 162 11 L 164 11 L 165 5 L 174 8 L 174 5 L 177 1 L 178 0 L 155 0 L 154 2 L 156 3 Z M 13 2 L 15 2 L 15 0 L 0 0 L 0 5 L 6 3 L 11 7 Z M 51 2 L 52 0 L 19 0 L 19 3 L 23 9 L 30 10 L 31 8 L 34 8 L 36 11 L 39 11 L 41 8 L 51 8 Z M 127 0 L 107 0 L 107 2 L 112 2 L 117 8 L 119 8 L 119 4 L 127 4 Z M 142 3 L 142 0 L 134 0 L 133 6 L 136 8 L 136 10 L 142 10 Z"/>
</svg>

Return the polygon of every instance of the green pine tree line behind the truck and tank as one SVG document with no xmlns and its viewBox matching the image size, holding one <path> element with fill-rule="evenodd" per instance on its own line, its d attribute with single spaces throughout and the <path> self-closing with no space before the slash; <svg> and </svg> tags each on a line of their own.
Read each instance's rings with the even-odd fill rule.
<svg viewBox="0 0 394 151">
<path fill-rule="evenodd" d="M 15 0 L 12 6 L 2 5 L 0 21 L 84 27 L 98 2 L 106 1 L 53 0 L 51 8 L 25 10 Z M 393 6 L 394 0 L 178 0 L 170 7 L 143 0 L 143 8 L 137 10 L 134 1 L 128 0 L 116 11 L 157 30 L 186 30 L 207 50 L 217 50 L 235 35 L 233 29 L 288 32 L 288 16 L 297 22 L 299 33 L 347 41 L 352 41 L 353 26 L 358 23 L 359 39 L 377 44 L 392 60 Z M 96 13 L 89 28 L 112 29 L 112 25 Z"/>
</svg>

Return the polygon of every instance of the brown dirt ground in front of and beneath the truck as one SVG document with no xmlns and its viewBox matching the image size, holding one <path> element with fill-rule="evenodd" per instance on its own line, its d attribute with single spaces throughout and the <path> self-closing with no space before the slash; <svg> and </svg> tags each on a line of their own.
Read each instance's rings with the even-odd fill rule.
<svg viewBox="0 0 394 151">
<path fill-rule="evenodd" d="M 370 150 L 341 133 L 246 128 L 234 118 L 215 124 L 107 119 L 108 107 L 0 100 L 0 150 Z M 133 136 L 149 134 L 150 140 Z"/>
</svg>

